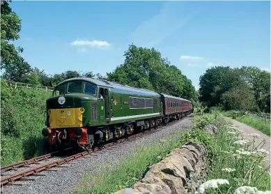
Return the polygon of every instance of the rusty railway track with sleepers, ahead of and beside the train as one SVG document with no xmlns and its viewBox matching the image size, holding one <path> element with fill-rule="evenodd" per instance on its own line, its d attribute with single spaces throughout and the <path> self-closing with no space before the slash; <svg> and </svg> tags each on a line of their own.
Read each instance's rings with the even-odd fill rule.
<svg viewBox="0 0 271 194">
<path fill-rule="evenodd" d="M 185 117 L 183 117 L 183 118 L 185 118 Z M 171 123 L 167 124 L 166 126 L 171 126 L 173 124 L 176 124 L 176 122 L 181 121 L 182 119 L 176 120 L 176 121 L 171 121 Z M 45 174 L 39 174 L 39 172 L 46 171 L 46 170 L 47 171 L 57 171 L 57 170 L 53 170 L 52 168 L 53 167 L 67 167 L 64 165 L 65 163 L 69 163 L 70 161 L 76 160 L 78 158 L 82 158 L 86 155 L 91 155 L 91 154 L 96 153 L 98 151 L 107 149 L 107 148 L 112 147 L 112 146 L 119 144 L 121 142 L 127 142 L 129 140 L 134 140 L 134 139 L 136 139 L 136 137 L 139 137 L 141 135 L 153 133 L 157 129 L 162 128 L 162 127 L 164 127 L 164 126 L 159 126 L 156 129 L 150 128 L 150 130 L 146 130 L 144 132 L 137 133 L 135 135 L 131 135 L 127 139 L 122 138 L 120 140 L 117 140 L 116 142 L 109 142 L 107 144 L 104 144 L 104 146 L 102 148 L 88 149 L 87 151 L 82 151 L 79 154 L 68 156 L 66 158 L 60 158 L 55 161 L 51 161 L 49 163 L 43 163 L 43 164 L 38 165 L 36 167 L 31 167 L 30 165 L 39 164 L 38 162 L 40 162 L 40 161 L 49 161 L 50 159 L 54 159 L 54 155 L 58 154 L 58 152 L 56 151 L 51 154 L 46 154 L 44 156 L 32 158 L 28 161 L 22 161 L 20 163 L 14 164 L 14 165 L 8 165 L 6 167 L 2 167 L 1 168 L 1 183 L 0 183 L 0 185 L 1 185 L 1 187 L 5 186 L 5 185 L 22 185 L 22 184 L 18 184 L 15 181 L 28 181 L 28 180 L 33 181 L 35 179 L 30 179 L 29 178 L 30 176 L 45 176 Z M 68 149 L 70 149 L 70 148 L 68 148 Z M 65 149 L 65 150 L 67 150 L 67 149 Z M 95 156 L 95 155 L 93 155 L 93 156 Z M 26 167 L 26 170 L 20 171 L 20 168 L 23 168 L 23 167 Z M 29 169 L 27 169 L 27 168 L 29 168 Z M 8 174 L 8 175 L 4 174 L 5 172 L 9 172 L 10 170 L 15 170 L 15 171 L 18 170 L 20 172 L 17 172 L 17 173 L 15 172 L 14 174 Z"/>
</svg>

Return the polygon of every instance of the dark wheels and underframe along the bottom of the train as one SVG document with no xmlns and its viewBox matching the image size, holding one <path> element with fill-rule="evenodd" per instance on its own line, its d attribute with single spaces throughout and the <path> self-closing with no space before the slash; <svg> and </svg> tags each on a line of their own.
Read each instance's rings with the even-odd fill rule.
<svg viewBox="0 0 271 194">
<path fill-rule="evenodd" d="M 191 112 L 192 110 L 177 114 L 169 114 L 164 117 L 142 119 L 120 124 L 86 127 L 86 138 L 83 138 L 85 141 L 82 141 L 82 135 L 74 135 L 75 128 L 54 128 L 51 129 L 53 130 L 52 135 L 55 138 L 55 141 L 52 141 L 52 147 L 58 150 L 72 147 L 72 149 L 80 151 L 91 149 L 93 147 L 102 147 L 105 142 L 118 140 L 120 137 L 128 137 L 133 133 L 144 132 L 150 128 L 166 125 L 170 121 L 181 119 Z M 63 135 L 58 137 L 59 133 Z"/>
</svg>

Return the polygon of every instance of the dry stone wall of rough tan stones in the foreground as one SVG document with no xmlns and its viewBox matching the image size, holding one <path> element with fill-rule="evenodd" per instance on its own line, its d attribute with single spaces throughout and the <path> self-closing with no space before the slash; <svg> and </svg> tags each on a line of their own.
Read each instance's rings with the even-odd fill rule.
<svg viewBox="0 0 271 194">
<path fill-rule="evenodd" d="M 204 147 L 188 142 L 150 167 L 132 188 L 114 194 L 192 194 L 206 179 L 206 160 Z"/>
</svg>

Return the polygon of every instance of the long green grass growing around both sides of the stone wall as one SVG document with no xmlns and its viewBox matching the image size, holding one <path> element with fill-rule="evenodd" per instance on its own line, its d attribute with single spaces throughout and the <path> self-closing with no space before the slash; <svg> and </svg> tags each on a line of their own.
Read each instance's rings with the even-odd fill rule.
<svg viewBox="0 0 271 194">
<path fill-rule="evenodd" d="M 266 172 L 263 157 L 261 156 L 240 156 L 235 157 L 235 151 L 243 148 L 233 144 L 240 135 L 231 133 L 238 132 L 229 128 L 229 121 L 224 117 L 217 117 L 222 124 L 217 130 L 217 134 L 210 135 L 201 128 L 205 124 L 214 120 L 214 115 L 196 117 L 193 121 L 193 130 L 185 133 L 175 131 L 169 134 L 166 141 L 154 141 L 149 145 L 142 145 L 133 152 L 132 157 L 125 158 L 121 163 L 106 170 L 101 168 L 98 174 L 84 174 L 82 181 L 77 187 L 76 193 L 114 193 L 123 188 L 131 187 L 142 179 L 142 175 L 148 165 L 153 165 L 162 160 L 170 151 L 185 142 L 194 141 L 207 148 L 208 151 L 208 179 L 227 179 L 229 185 L 219 186 L 219 189 L 208 189 L 208 193 L 234 193 L 235 189 L 247 185 L 266 191 L 270 190 L 270 175 Z M 229 131 L 231 133 L 229 133 Z M 174 140 L 171 137 L 178 137 Z M 256 145 L 254 145 L 254 148 Z M 250 150 L 251 151 L 251 150 Z M 226 167 L 235 168 L 235 172 L 224 172 Z"/>
</svg>

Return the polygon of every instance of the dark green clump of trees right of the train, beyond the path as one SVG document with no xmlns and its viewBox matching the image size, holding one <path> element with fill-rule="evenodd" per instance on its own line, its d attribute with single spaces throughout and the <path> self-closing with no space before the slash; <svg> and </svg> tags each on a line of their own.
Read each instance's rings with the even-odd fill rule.
<svg viewBox="0 0 271 194">
<path fill-rule="evenodd" d="M 256 67 L 209 68 L 200 77 L 199 91 L 208 107 L 270 112 L 270 73 Z"/>
</svg>

